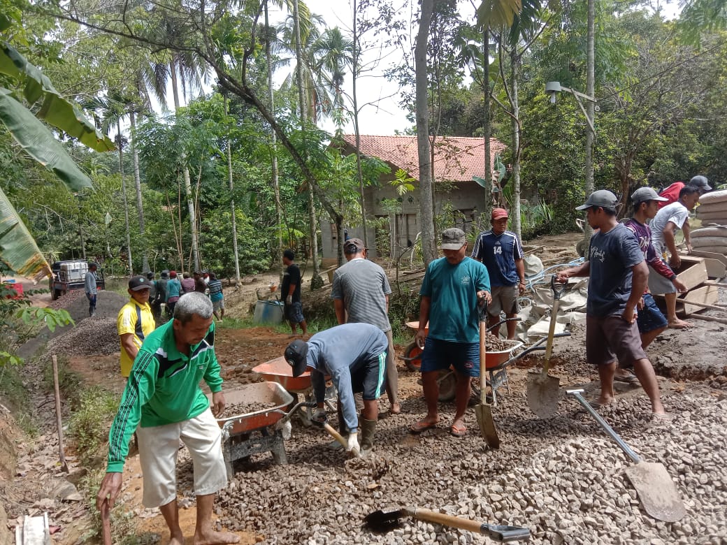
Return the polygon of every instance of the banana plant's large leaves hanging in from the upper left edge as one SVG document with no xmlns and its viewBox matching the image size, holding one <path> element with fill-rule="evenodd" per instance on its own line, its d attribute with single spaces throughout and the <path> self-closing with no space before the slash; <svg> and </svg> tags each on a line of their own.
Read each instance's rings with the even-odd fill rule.
<svg viewBox="0 0 727 545">
<path fill-rule="evenodd" d="M 0 31 L 10 25 L 7 18 L 0 18 Z M 75 105 L 61 97 L 38 67 L 25 60 L 5 41 L 0 42 L 0 73 L 23 86 L 23 95 L 30 108 L 39 104 L 33 115 L 10 89 L 0 86 L 0 121 L 15 141 L 29 156 L 56 174 L 69 190 L 93 187 L 91 179 L 73 162 L 63 145 L 40 119 L 96 151 L 113 150 L 113 142 L 98 132 Z M 51 274 L 50 266 L 33 236 L 2 190 L 0 261 L 16 273 L 31 276 L 36 281 Z"/>
</svg>

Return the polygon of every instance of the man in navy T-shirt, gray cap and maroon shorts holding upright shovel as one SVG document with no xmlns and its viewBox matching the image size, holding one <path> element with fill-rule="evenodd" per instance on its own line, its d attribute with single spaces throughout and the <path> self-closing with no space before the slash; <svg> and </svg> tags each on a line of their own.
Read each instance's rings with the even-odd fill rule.
<svg viewBox="0 0 727 545">
<path fill-rule="evenodd" d="M 662 405 L 659 384 L 636 326 L 636 307 L 646 291 L 648 267 L 638 242 L 616 220 L 616 195 L 598 190 L 577 210 L 586 211 L 588 224 L 598 229 L 590 239 L 587 261 L 557 273 L 556 281 L 567 283 L 571 276 L 590 276 L 586 307 L 586 359 L 598 367 L 601 395 L 594 407 L 615 401 L 616 364 L 633 367 L 651 400 L 654 421 L 668 419 Z"/>
</svg>

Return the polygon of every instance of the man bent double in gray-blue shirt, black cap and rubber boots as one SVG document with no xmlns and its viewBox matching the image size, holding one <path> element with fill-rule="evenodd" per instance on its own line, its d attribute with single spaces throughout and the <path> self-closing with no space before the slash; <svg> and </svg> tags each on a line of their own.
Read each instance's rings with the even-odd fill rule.
<svg viewBox="0 0 727 545">
<path fill-rule="evenodd" d="M 325 419 L 326 375 L 338 390 L 342 416 L 339 427 L 345 429 L 346 450 L 361 451 L 366 456 L 374 446 L 378 398 L 384 389 L 384 370 L 388 342 L 377 326 L 369 323 L 345 323 L 310 337 L 297 339 L 285 349 L 285 359 L 300 376 L 310 368 L 310 382 L 316 393 L 318 410 L 313 418 Z M 358 444 L 358 415 L 353 395 L 361 392 L 364 411 L 361 416 L 361 446 Z"/>
</svg>

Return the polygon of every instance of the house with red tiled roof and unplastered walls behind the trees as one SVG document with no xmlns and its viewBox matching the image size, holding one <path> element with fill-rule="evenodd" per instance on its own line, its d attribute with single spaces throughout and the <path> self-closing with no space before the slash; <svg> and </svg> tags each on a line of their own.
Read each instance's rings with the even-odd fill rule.
<svg viewBox="0 0 727 545">
<path fill-rule="evenodd" d="M 356 153 L 356 137 L 346 134 L 342 149 L 344 155 Z M 434 149 L 434 187 L 435 214 L 441 213 L 443 206 L 450 205 L 457 210 L 457 227 L 470 229 L 472 222 L 483 209 L 484 190 L 473 177 L 483 177 L 485 171 L 482 138 L 470 137 L 438 137 Z M 490 139 L 490 164 L 494 166 L 494 157 L 502 155 L 505 145 L 495 138 Z M 409 246 L 414 241 L 419 227 L 419 157 L 417 155 L 416 136 L 370 136 L 361 135 L 361 153 L 365 156 L 378 157 L 391 167 L 391 173 L 382 176 L 379 187 L 367 187 L 364 190 L 366 215 L 369 217 L 386 217 L 389 225 L 394 226 L 394 233 L 388 233 L 389 246 L 394 247 L 393 254 Z M 403 169 L 414 178 L 414 191 L 399 196 L 395 187 L 390 185 L 398 169 Z M 392 201 L 400 206 L 391 210 Z M 388 227 L 387 227 L 388 230 Z M 374 241 L 377 233 L 373 227 L 368 228 L 369 256 L 379 257 L 384 253 L 377 248 Z M 362 227 L 348 227 L 348 235 L 363 237 Z M 382 240 L 379 233 L 379 241 Z M 336 229 L 332 222 L 322 225 L 321 233 L 323 258 L 326 262 L 336 259 Z"/>
</svg>

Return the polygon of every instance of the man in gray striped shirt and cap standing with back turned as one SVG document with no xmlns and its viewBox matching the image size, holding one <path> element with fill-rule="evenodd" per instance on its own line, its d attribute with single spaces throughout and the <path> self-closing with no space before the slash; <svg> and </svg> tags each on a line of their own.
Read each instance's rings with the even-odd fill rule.
<svg viewBox="0 0 727 545">
<path fill-rule="evenodd" d="M 333 273 L 331 299 L 338 323 L 370 323 L 385 333 L 389 342 L 386 352 L 386 395 L 391 405 L 389 412 L 398 414 L 401 413 L 399 379 L 388 316 L 391 287 L 384 270 L 366 259 L 367 251 L 360 238 L 349 238 L 343 243 L 347 263 Z"/>
</svg>

